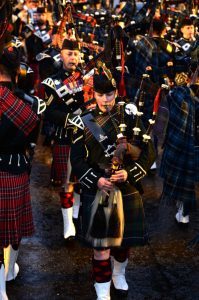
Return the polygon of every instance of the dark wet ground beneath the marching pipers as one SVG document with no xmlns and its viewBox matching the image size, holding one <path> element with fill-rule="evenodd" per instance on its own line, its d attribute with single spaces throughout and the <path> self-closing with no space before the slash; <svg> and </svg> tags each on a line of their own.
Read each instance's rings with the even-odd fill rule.
<svg viewBox="0 0 199 300">
<path fill-rule="evenodd" d="M 31 175 L 36 233 L 24 239 L 19 253 L 20 273 L 7 284 L 9 300 L 94 300 L 91 257 L 77 241 L 62 237 L 57 191 L 50 185 L 50 151 L 38 146 Z M 144 206 L 149 246 L 131 250 L 127 268 L 128 299 L 199 299 L 199 247 L 187 247 L 199 232 L 199 211 L 188 230 L 174 222 L 175 209 L 161 205 L 162 182 L 156 175 L 144 180 Z M 117 299 L 115 295 L 111 299 Z"/>
</svg>

